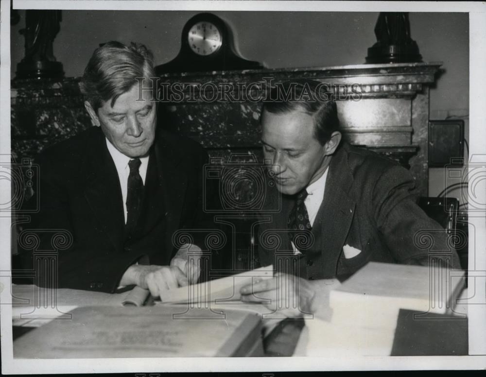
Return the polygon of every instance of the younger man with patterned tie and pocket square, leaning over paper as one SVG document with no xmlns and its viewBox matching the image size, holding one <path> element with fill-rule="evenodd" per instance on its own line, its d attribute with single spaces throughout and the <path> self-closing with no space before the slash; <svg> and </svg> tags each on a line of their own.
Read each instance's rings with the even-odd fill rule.
<svg viewBox="0 0 486 377">
<path fill-rule="evenodd" d="M 414 242 L 419 231 L 431 230 L 436 246 L 450 250 L 445 231 L 434 232 L 442 228 L 416 205 L 409 171 L 343 142 L 336 103 L 320 89 L 311 80 L 284 83 L 273 89 L 260 118 L 263 155 L 275 183 L 263 208 L 281 204 L 272 222 L 260 223 L 260 262 L 278 264 L 279 252 L 265 241 L 274 234 L 280 251 L 290 252 L 287 265 L 296 267 L 243 287 L 242 300 L 273 299 L 273 308 L 290 317 L 318 311 L 330 287 L 369 261 L 427 265 L 428 251 Z M 446 259 L 460 268 L 454 250 Z M 297 295 L 298 308 L 278 304 L 275 296 L 279 281 L 283 293 L 282 276 L 292 274 L 297 289 L 279 297 L 292 302 Z"/>
</svg>

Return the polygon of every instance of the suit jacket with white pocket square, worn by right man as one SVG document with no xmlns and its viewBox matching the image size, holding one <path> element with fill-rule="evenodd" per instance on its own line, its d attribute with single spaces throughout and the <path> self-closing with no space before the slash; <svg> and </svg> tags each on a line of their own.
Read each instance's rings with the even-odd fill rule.
<svg viewBox="0 0 486 377">
<path fill-rule="evenodd" d="M 343 143 L 331 158 L 324 198 L 311 234 L 304 234 L 309 242 L 303 242 L 302 248 L 307 248 L 303 256 L 293 256 L 286 230 L 294 199 L 270 188 L 263 208 L 280 206 L 281 210 L 262 212 L 260 263 L 278 268 L 294 264 L 293 273 L 298 270 L 301 277 L 340 280 L 369 261 L 425 265 L 431 256 L 442 262 L 449 259 L 454 268 L 460 268 L 445 231 L 416 205 L 414 188 L 415 181 L 406 169 Z M 280 240 L 279 246 L 275 237 Z M 430 238 L 432 245 L 427 244 Z M 361 252 L 346 258 L 345 245 Z"/>
</svg>

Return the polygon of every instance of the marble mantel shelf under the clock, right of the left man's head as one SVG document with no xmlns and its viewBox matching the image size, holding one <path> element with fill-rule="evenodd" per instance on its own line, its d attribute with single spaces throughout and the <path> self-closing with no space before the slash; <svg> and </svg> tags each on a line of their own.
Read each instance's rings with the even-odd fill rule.
<svg viewBox="0 0 486 377">
<path fill-rule="evenodd" d="M 417 92 L 422 91 L 422 86 L 431 84 L 435 80 L 435 74 L 439 71 L 442 63 L 403 63 L 403 64 L 359 64 L 349 66 L 334 67 L 304 67 L 292 69 L 253 69 L 243 71 L 212 71 L 212 72 L 187 72 L 164 74 L 160 77 L 160 83 L 163 85 L 182 84 L 176 90 L 183 93 L 182 101 L 205 102 L 206 100 L 199 96 L 199 93 L 193 92 L 195 86 L 201 88 L 204 84 L 220 85 L 217 90 L 220 94 L 229 87 L 228 93 L 233 98 L 241 96 L 235 93 L 243 92 L 246 94 L 248 88 L 252 97 L 258 97 L 267 86 L 274 85 L 282 81 L 313 79 L 328 84 L 334 92 L 339 91 L 341 95 L 337 96 L 338 100 L 348 100 L 355 98 L 353 95 L 359 93 L 361 98 L 412 98 Z M 257 86 L 250 86 L 258 84 Z M 213 92 L 212 86 L 206 86 L 205 93 L 209 96 Z M 168 92 L 169 93 L 169 92 Z M 345 93 L 345 95 L 342 95 Z M 168 96 L 169 97 L 169 96 Z M 219 100 L 219 103 L 225 100 Z M 244 101 L 243 101 L 244 102 Z"/>
</svg>

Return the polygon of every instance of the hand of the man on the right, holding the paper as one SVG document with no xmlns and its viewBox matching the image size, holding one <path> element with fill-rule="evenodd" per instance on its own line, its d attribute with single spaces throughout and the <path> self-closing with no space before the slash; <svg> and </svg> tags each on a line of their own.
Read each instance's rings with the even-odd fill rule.
<svg viewBox="0 0 486 377">
<path fill-rule="evenodd" d="M 240 293 L 243 302 L 260 302 L 285 317 L 315 314 L 330 319 L 329 292 L 340 283 L 336 279 L 309 281 L 291 274 L 277 273 L 272 279 L 255 280 Z"/>
</svg>

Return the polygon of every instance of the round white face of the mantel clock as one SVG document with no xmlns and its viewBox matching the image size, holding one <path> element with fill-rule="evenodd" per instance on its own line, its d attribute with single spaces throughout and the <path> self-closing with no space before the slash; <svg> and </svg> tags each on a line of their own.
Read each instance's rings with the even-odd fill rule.
<svg viewBox="0 0 486 377">
<path fill-rule="evenodd" d="M 211 22 L 201 21 L 189 30 L 189 47 L 198 55 L 208 56 L 218 51 L 223 44 L 223 36 Z"/>
</svg>

